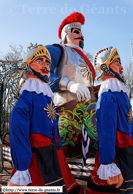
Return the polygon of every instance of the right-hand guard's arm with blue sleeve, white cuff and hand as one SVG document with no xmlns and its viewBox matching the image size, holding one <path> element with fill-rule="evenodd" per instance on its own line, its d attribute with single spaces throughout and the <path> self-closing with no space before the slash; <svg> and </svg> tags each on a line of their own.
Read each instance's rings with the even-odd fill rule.
<svg viewBox="0 0 133 194">
<path fill-rule="evenodd" d="M 114 164 L 115 142 L 117 132 L 117 102 L 111 95 L 102 98 L 97 110 L 97 126 L 99 135 L 99 157 L 100 167 L 97 174 L 100 179 L 107 180 L 107 183 L 116 187 L 122 184 L 121 171 Z"/>
</svg>

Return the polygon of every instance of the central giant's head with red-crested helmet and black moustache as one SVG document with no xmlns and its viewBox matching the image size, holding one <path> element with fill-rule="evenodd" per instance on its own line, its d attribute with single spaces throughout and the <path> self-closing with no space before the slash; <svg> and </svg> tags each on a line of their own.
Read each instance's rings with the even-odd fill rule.
<svg viewBox="0 0 133 194">
<path fill-rule="evenodd" d="M 70 14 L 63 20 L 58 30 L 58 37 L 62 39 L 63 44 L 75 44 L 84 47 L 84 36 L 81 32 L 81 26 L 84 25 L 85 18 L 79 12 Z"/>
</svg>

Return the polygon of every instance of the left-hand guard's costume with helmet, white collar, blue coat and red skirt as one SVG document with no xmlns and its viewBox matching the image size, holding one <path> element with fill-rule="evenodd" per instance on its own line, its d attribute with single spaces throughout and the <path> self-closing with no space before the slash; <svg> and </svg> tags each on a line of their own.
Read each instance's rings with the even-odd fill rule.
<svg viewBox="0 0 133 194">
<path fill-rule="evenodd" d="M 44 46 L 28 54 L 23 65 L 25 74 L 27 71 L 38 75 L 38 78 L 26 80 L 11 113 L 10 143 L 15 167 L 10 182 L 28 186 L 62 186 L 63 193 L 82 194 L 83 188 L 72 176 L 62 150 L 58 110 L 51 99 L 53 93 L 44 82 L 48 78 L 35 72 L 31 66 L 32 59 L 33 62 L 38 60 L 38 65 L 43 61 L 43 56 L 49 62 L 50 55 Z M 40 72 L 48 72 L 47 69 L 43 67 Z"/>
</svg>

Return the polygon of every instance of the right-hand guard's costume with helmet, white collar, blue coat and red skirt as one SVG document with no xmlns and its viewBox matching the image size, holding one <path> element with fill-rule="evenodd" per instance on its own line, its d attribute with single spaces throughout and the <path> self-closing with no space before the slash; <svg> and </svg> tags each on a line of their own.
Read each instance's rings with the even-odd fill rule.
<svg viewBox="0 0 133 194">
<path fill-rule="evenodd" d="M 105 79 L 99 91 L 96 105 L 99 151 L 95 168 L 88 178 L 86 194 L 133 192 L 132 111 L 124 79 L 110 67 L 115 59 L 116 66 L 117 60 L 120 61 L 118 51 L 111 49 L 103 49 L 95 56 L 99 79 L 105 74 L 114 78 Z M 124 178 L 122 186 L 118 189 L 109 186 L 106 180 L 119 174 Z"/>
</svg>

